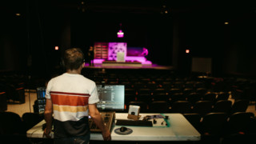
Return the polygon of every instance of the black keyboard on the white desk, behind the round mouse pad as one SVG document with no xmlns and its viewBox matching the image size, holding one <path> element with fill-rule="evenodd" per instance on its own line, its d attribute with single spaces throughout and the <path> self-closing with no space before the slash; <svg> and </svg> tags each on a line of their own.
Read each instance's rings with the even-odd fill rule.
<svg viewBox="0 0 256 144">
<path fill-rule="evenodd" d="M 128 120 L 128 119 L 117 119 L 117 122 L 115 123 L 117 126 L 153 126 L 152 121 L 134 121 L 134 120 Z"/>
</svg>

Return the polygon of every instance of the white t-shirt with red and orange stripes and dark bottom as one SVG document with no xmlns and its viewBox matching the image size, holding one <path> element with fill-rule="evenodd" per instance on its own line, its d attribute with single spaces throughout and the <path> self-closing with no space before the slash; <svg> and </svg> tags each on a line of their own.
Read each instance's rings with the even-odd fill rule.
<svg viewBox="0 0 256 144">
<path fill-rule="evenodd" d="M 95 82 L 81 74 L 62 74 L 52 78 L 46 98 L 53 102 L 54 138 L 82 136 L 90 131 L 88 104 L 98 102 Z"/>
</svg>

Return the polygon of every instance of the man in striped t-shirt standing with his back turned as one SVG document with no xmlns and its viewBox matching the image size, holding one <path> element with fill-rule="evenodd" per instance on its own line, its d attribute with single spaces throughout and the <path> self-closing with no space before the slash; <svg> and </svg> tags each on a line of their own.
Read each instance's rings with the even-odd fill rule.
<svg viewBox="0 0 256 144">
<path fill-rule="evenodd" d="M 79 48 L 66 50 L 63 58 L 66 73 L 51 78 L 47 83 L 44 135 L 50 138 L 54 124 L 56 144 L 89 143 L 89 113 L 96 126 L 102 130 L 104 141 L 111 140 L 110 130 L 103 124 L 96 106 L 99 101 L 96 84 L 81 74 L 83 59 L 84 54 Z"/>
</svg>

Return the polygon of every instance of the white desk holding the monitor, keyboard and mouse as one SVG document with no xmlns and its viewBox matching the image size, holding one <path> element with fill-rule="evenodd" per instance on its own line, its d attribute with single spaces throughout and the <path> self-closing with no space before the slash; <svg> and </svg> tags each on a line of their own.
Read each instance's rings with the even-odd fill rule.
<svg viewBox="0 0 256 144">
<path fill-rule="evenodd" d="M 127 119 L 127 113 L 116 113 L 116 119 Z M 140 114 L 141 119 L 146 115 Z M 169 116 L 168 122 L 170 126 L 126 126 L 133 130 L 131 134 L 121 135 L 114 132 L 115 129 L 121 126 L 113 124 L 111 130 L 112 141 L 199 141 L 201 135 L 198 131 L 186 120 L 182 114 L 164 114 Z M 43 120 L 36 126 L 26 132 L 28 138 L 43 138 L 42 124 Z M 102 134 L 91 133 L 90 140 L 103 140 Z"/>
</svg>

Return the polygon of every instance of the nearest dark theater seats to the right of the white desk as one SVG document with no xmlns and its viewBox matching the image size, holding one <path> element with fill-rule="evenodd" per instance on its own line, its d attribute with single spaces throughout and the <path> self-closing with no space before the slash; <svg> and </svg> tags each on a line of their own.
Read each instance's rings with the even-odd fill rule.
<svg viewBox="0 0 256 144">
<path fill-rule="evenodd" d="M 201 141 L 198 143 L 256 142 L 256 121 L 253 113 L 236 112 L 228 115 L 216 112 L 203 117 L 199 114 L 183 115 L 201 134 Z"/>
</svg>

